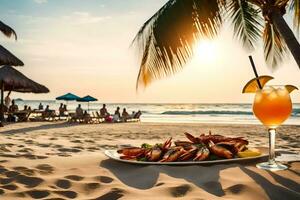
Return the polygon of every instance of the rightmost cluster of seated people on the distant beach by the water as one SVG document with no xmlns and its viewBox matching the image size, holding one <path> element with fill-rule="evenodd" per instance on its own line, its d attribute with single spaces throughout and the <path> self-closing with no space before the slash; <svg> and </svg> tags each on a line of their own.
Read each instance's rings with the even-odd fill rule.
<svg viewBox="0 0 300 200">
<path fill-rule="evenodd" d="M 108 122 L 126 122 L 129 119 L 139 119 L 142 115 L 142 112 L 139 110 L 137 112 L 133 111 L 132 114 L 128 114 L 126 108 L 123 108 L 122 114 L 120 112 L 120 107 L 117 107 L 115 113 L 111 115 L 107 109 L 106 104 L 103 104 L 102 108 L 100 109 L 100 117 L 103 117 L 105 121 Z"/>
</svg>

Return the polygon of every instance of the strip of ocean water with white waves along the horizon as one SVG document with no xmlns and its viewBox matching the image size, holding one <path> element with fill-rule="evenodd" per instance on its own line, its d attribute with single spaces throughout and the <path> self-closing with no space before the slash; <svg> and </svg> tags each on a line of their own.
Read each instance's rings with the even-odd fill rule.
<svg viewBox="0 0 300 200">
<path fill-rule="evenodd" d="M 63 101 L 16 101 L 19 108 L 24 105 L 37 108 L 39 103 L 49 105 L 50 109 L 58 110 Z M 75 111 L 78 102 L 67 102 L 69 111 Z M 88 104 L 81 103 L 87 110 Z M 117 106 L 126 108 L 128 113 L 142 111 L 142 122 L 171 122 L 171 123 L 238 123 L 260 124 L 252 114 L 251 104 L 110 104 L 106 103 L 108 112 L 114 113 Z M 99 111 L 102 103 L 90 103 L 90 112 Z M 300 104 L 293 105 L 293 113 L 285 124 L 300 125 Z"/>
</svg>

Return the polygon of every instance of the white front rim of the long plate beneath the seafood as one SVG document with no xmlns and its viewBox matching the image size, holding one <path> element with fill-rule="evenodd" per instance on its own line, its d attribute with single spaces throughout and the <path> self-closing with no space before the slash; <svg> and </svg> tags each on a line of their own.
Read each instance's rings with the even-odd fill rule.
<svg viewBox="0 0 300 200">
<path fill-rule="evenodd" d="M 227 162 L 239 162 L 239 161 L 249 161 L 256 160 L 259 158 L 267 157 L 268 154 L 265 153 L 264 149 L 259 148 L 262 152 L 260 156 L 250 157 L 250 158 L 232 158 L 232 159 L 223 159 L 223 160 L 204 160 L 204 161 L 182 161 L 182 162 L 145 162 L 145 161 L 136 161 L 136 160 L 123 160 L 120 159 L 120 154 L 117 153 L 117 150 L 105 150 L 104 153 L 107 157 L 125 163 L 132 164 L 141 164 L 141 165 L 200 165 L 200 164 L 214 164 L 214 163 L 227 163 Z"/>
</svg>

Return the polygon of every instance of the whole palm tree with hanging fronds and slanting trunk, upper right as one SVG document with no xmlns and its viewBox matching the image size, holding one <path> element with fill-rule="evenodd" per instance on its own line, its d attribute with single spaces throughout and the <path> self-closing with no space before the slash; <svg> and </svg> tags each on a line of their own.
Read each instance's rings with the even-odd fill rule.
<svg viewBox="0 0 300 200">
<path fill-rule="evenodd" d="M 137 87 L 180 70 L 195 42 L 214 38 L 226 20 L 246 49 L 254 49 L 262 37 L 270 67 L 276 68 L 290 50 L 300 68 L 300 45 L 283 18 L 286 12 L 293 13 L 299 33 L 300 0 L 169 0 L 133 41 L 141 52 Z"/>
</svg>

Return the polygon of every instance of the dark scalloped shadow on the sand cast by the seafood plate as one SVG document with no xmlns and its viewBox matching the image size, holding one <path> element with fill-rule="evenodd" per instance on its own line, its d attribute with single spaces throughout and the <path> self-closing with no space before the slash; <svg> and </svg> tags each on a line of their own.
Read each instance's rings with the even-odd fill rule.
<svg viewBox="0 0 300 200">
<path fill-rule="evenodd" d="M 193 183 L 210 194 L 222 197 L 225 195 L 222 185 L 219 182 L 220 171 L 238 167 L 237 164 L 215 165 L 211 166 L 154 166 L 154 165 L 133 165 L 120 163 L 111 159 L 100 163 L 101 167 L 110 170 L 124 184 L 137 189 L 150 189 L 158 186 L 159 174 L 184 179 Z M 209 169 L 208 169 L 209 168 Z"/>
</svg>

